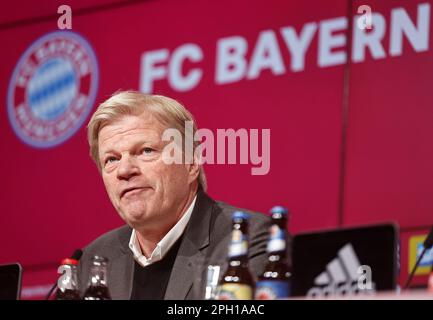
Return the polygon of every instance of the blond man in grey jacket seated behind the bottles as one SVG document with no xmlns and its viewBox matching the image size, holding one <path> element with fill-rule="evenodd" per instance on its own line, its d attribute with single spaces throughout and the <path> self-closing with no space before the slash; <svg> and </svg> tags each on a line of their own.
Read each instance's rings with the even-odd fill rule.
<svg viewBox="0 0 433 320">
<path fill-rule="evenodd" d="M 185 138 L 187 121 L 193 123 L 194 136 L 194 119 L 177 101 L 133 91 L 113 95 L 92 116 L 90 153 L 126 225 L 85 248 L 83 286 L 94 255 L 109 260 L 113 299 L 203 299 L 207 266 L 222 266 L 224 272 L 231 215 L 239 209 L 206 194 L 197 154 L 192 163 L 164 161 L 169 143 L 164 131 L 174 128 Z M 251 213 L 249 266 L 254 275 L 267 262 L 269 225 L 268 217 Z"/>
</svg>

